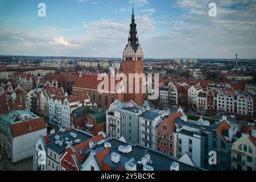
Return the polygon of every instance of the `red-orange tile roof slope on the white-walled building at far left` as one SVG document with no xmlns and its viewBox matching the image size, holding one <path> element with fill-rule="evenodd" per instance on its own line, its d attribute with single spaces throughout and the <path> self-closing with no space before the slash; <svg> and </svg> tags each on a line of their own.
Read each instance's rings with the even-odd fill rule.
<svg viewBox="0 0 256 182">
<path fill-rule="evenodd" d="M 30 121 L 14 123 L 11 125 L 13 137 L 19 137 L 43 129 L 46 129 L 46 123 L 44 123 L 43 118 L 32 119 Z"/>
</svg>

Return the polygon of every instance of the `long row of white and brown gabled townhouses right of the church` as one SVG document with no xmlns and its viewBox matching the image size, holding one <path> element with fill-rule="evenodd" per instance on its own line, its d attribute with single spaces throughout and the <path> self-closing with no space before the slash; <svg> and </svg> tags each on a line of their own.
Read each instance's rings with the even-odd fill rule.
<svg viewBox="0 0 256 182">
<path fill-rule="evenodd" d="M 256 93 L 253 89 L 235 90 L 231 85 L 174 84 L 160 88 L 160 103 L 238 115 L 256 115 Z"/>
</svg>

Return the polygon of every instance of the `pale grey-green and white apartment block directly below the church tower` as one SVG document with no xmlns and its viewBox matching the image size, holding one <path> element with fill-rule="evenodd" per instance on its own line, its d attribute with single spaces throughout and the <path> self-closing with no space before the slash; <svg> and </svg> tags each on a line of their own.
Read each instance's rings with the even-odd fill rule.
<svg viewBox="0 0 256 182">
<path fill-rule="evenodd" d="M 154 128 L 168 115 L 169 110 L 154 109 L 148 101 L 138 106 L 134 101 L 116 100 L 106 113 L 106 134 L 109 138 L 124 137 L 129 143 L 155 148 Z"/>
</svg>

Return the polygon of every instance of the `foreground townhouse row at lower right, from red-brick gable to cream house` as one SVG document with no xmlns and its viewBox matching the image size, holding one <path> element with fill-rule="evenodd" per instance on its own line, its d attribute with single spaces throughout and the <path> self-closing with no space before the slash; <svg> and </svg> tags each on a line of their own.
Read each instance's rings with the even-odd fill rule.
<svg viewBox="0 0 256 182">
<path fill-rule="evenodd" d="M 256 130 L 249 125 L 241 132 L 223 117 L 210 123 L 187 122 L 182 110 L 164 119 L 156 128 L 156 150 L 177 159 L 187 154 L 196 166 L 208 170 L 256 170 Z M 216 152 L 217 164 L 209 163 Z"/>
</svg>

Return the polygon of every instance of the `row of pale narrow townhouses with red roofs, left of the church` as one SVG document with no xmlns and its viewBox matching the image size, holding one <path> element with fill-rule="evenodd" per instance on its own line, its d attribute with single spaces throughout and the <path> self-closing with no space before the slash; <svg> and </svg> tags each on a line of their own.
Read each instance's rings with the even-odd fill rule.
<svg viewBox="0 0 256 182">
<path fill-rule="evenodd" d="M 49 124 L 59 129 L 72 126 L 72 111 L 81 106 L 92 106 L 88 94 L 68 96 L 62 87 L 34 89 L 28 94 L 27 102 L 29 109 L 32 110 L 36 106 L 36 113 L 46 117 Z"/>
</svg>

